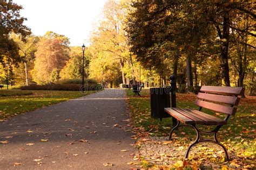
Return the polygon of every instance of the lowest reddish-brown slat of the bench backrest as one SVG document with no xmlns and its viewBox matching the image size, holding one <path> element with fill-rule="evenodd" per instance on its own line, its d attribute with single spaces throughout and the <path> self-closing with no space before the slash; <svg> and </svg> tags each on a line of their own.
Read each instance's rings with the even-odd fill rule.
<svg viewBox="0 0 256 170">
<path fill-rule="evenodd" d="M 228 114 L 228 115 L 234 115 L 235 111 L 237 111 L 237 108 L 227 107 L 225 105 L 220 105 L 220 104 L 216 104 L 216 103 L 205 102 L 205 101 L 201 101 L 198 99 L 196 100 L 195 104 L 200 107 L 210 109 L 213 111 L 217 111 L 217 112 L 221 112 L 221 113 Z"/>
</svg>

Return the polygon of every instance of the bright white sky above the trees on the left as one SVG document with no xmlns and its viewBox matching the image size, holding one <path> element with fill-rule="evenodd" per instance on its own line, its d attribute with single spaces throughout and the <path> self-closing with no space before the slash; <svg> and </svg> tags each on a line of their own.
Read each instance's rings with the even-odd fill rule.
<svg viewBox="0 0 256 170">
<path fill-rule="evenodd" d="M 13 0 L 22 5 L 21 16 L 33 34 L 43 36 L 53 31 L 70 38 L 71 46 L 88 45 L 93 24 L 107 0 Z"/>
</svg>

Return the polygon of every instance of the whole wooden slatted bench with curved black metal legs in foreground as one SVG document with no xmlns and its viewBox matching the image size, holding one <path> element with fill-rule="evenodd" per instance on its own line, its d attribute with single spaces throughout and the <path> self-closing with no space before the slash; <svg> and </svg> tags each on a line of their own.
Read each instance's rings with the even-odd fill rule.
<svg viewBox="0 0 256 170">
<path fill-rule="evenodd" d="M 185 158 L 191 150 L 191 147 L 202 142 L 215 143 L 223 147 L 226 155 L 226 160 L 229 160 L 227 150 L 223 144 L 217 139 L 217 132 L 221 126 L 227 124 L 227 120 L 231 115 L 235 115 L 237 111 L 237 105 L 240 101 L 238 96 L 244 93 L 242 87 L 215 87 L 215 86 L 203 86 L 200 89 L 200 93 L 197 95 L 196 105 L 199 106 L 198 110 L 183 109 L 183 108 L 165 108 L 165 111 L 172 117 L 176 118 L 178 123 L 171 130 L 169 139 L 172 138 L 172 133 L 180 126 L 192 126 L 196 130 L 197 138 L 188 147 Z M 202 108 L 209 109 L 214 112 L 226 114 L 224 119 L 205 114 L 200 111 Z M 180 125 L 183 123 L 184 125 Z M 215 128 L 211 131 L 203 131 L 197 128 L 196 125 L 215 125 Z M 201 133 L 214 133 L 214 140 L 202 139 Z"/>
</svg>

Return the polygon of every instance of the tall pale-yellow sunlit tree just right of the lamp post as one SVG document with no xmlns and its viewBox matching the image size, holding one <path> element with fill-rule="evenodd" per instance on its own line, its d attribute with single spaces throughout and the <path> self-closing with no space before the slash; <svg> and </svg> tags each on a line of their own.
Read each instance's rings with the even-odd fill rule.
<svg viewBox="0 0 256 170">
<path fill-rule="evenodd" d="M 92 49 L 109 56 L 107 60 L 118 63 L 124 84 L 128 83 L 125 80 L 125 77 L 130 78 L 127 77 L 128 75 L 132 76 L 133 83 L 135 83 L 133 54 L 130 53 L 127 33 L 124 29 L 129 7 L 129 1 L 107 1 L 103 10 L 103 18 L 91 37 Z M 125 69 L 126 65 L 131 68 L 129 70 L 131 74 L 125 73 L 128 70 Z"/>
</svg>

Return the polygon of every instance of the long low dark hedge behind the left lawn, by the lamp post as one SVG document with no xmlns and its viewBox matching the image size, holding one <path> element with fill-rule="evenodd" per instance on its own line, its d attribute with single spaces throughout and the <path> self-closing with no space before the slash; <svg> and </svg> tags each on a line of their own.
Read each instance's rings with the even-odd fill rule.
<svg viewBox="0 0 256 170">
<path fill-rule="evenodd" d="M 82 89 L 81 84 L 45 84 L 45 85 L 37 85 L 30 84 L 29 86 L 22 86 L 22 90 L 69 90 L 69 91 L 79 91 Z M 102 90 L 102 86 L 100 84 L 85 84 L 85 90 Z"/>
</svg>

